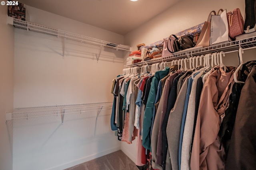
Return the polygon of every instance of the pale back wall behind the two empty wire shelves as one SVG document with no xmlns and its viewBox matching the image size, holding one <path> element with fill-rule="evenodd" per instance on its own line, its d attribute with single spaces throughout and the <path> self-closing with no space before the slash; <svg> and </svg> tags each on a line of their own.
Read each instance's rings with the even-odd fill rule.
<svg viewBox="0 0 256 170">
<path fill-rule="evenodd" d="M 113 43 L 124 36 L 27 8 L 30 21 Z M 50 19 L 49 19 L 50 18 Z M 111 102 L 112 79 L 127 52 L 14 29 L 14 108 Z M 13 170 L 64 169 L 120 150 L 110 110 L 13 121 Z M 90 117 L 87 117 L 90 115 Z M 95 133 L 94 133 L 95 131 Z"/>
</svg>

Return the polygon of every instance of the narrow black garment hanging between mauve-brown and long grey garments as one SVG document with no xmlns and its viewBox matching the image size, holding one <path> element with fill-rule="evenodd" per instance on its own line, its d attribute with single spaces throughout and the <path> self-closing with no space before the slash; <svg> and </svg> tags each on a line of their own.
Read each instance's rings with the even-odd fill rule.
<svg viewBox="0 0 256 170">
<path fill-rule="evenodd" d="M 184 72 L 178 74 L 178 76 L 176 76 L 172 82 L 172 88 L 170 89 L 170 92 L 168 95 L 167 109 L 166 109 L 166 113 L 164 115 L 164 119 L 162 122 L 161 128 L 162 128 L 162 145 L 163 145 L 163 170 L 165 170 L 165 168 L 166 168 L 166 155 L 167 155 L 167 150 L 168 150 L 168 142 L 167 142 L 167 135 L 166 135 L 168 118 L 170 115 L 170 111 L 174 107 L 174 104 L 176 102 L 178 81 L 183 74 L 184 74 Z"/>
</svg>

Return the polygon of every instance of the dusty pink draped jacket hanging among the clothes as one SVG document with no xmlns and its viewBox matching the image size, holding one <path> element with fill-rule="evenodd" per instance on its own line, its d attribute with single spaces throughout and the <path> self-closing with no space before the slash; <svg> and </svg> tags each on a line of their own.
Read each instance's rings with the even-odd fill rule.
<svg viewBox="0 0 256 170">
<path fill-rule="evenodd" d="M 234 67 L 228 67 L 228 72 L 224 72 L 221 67 L 215 67 L 204 84 L 191 153 L 191 170 L 225 168 L 224 149 L 220 147 L 218 131 L 234 80 L 234 70 Z"/>
</svg>

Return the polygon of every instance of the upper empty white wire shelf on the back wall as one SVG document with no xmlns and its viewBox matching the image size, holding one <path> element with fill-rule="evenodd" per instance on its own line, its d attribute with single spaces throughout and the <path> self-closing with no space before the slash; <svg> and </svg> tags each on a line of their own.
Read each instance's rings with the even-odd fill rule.
<svg viewBox="0 0 256 170">
<path fill-rule="evenodd" d="M 122 50 L 122 51 L 130 51 L 131 47 L 128 45 L 122 45 L 122 44 L 117 44 L 117 43 L 111 43 L 108 41 L 100 40 L 100 39 L 95 39 L 92 37 L 86 37 L 84 35 L 79 35 L 76 33 L 71 33 L 68 31 L 62 31 L 60 29 L 40 25 L 37 23 L 32 23 L 29 21 L 23 21 L 23 20 L 18 20 L 12 17 L 8 17 L 8 23 L 11 25 L 14 25 L 16 28 L 20 29 L 26 29 L 27 31 L 35 31 L 39 33 L 45 33 L 48 35 L 54 35 L 56 37 L 61 37 L 73 41 L 78 41 L 80 43 L 88 43 L 92 45 L 98 45 L 101 47 L 109 47 L 112 49 L 116 50 Z"/>
</svg>

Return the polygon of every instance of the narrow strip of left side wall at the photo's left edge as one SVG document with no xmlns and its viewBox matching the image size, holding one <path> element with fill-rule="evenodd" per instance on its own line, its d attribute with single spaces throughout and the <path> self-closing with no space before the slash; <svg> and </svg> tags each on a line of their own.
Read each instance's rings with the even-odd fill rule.
<svg viewBox="0 0 256 170">
<path fill-rule="evenodd" d="M 0 169 L 12 170 L 12 140 L 5 113 L 13 108 L 14 29 L 7 25 L 7 7 L 0 6 Z"/>
</svg>

